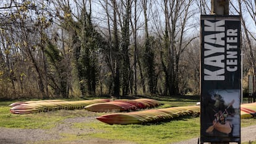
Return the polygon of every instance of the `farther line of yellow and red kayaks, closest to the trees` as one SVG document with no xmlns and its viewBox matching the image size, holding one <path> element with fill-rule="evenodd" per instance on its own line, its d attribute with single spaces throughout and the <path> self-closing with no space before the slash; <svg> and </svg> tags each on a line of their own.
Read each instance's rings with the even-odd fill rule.
<svg viewBox="0 0 256 144">
<path fill-rule="evenodd" d="M 96 99 L 83 101 L 64 100 L 41 100 L 41 101 L 19 101 L 12 103 L 10 109 L 13 114 L 31 114 L 36 112 L 48 112 L 59 109 L 87 109 L 93 112 L 122 112 L 138 111 L 160 106 L 157 100 L 140 98 L 135 100 L 113 100 Z"/>
</svg>

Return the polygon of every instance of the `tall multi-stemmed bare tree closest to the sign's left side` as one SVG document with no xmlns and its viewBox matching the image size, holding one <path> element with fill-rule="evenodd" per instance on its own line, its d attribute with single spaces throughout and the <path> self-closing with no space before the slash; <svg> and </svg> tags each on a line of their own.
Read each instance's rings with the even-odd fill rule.
<svg viewBox="0 0 256 144">
<path fill-rule="evenodd" d="M 188 29 L 187 21 L 193 15 L 190 11 L 192 0 L 164 1 L 163 11 L 165 17 L 165 28 L 163 38 L 163 54 L 161 63 L 165 74 L 165 88 L 169 95 L 179 93 L 179 62 L 180 56 L 188 44 L 194 40 L 184 40 L 184 34 Z"/>
</svg>

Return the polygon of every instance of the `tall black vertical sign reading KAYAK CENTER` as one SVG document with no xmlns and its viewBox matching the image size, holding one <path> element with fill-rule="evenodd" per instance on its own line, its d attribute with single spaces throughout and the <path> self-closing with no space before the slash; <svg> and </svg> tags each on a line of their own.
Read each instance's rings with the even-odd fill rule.
<svg viewBox="0 0 256 144">
<path fill-rule="evenodd" d="M 241 142 L 241 22 L 201 15 L 200 142 Z"/>
</svg>

